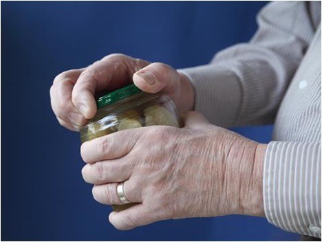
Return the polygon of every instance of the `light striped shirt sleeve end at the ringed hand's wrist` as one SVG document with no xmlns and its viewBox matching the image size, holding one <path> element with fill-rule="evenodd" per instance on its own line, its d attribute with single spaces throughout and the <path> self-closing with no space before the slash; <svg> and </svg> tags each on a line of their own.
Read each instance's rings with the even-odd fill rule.
<svg viewBox="0 0 322 242">
<path fill-rule="evenodd" d="M 270 223 L 321 238 L 321 143 L 270 142 L 263 193 Z"/>
</svg>

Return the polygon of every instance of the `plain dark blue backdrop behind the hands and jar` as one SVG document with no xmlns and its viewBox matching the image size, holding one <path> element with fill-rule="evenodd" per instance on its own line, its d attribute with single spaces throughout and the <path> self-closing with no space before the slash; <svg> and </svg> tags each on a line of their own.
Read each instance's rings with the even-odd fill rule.
<svg viewBox="0 0 322 242">
<path fill-rule="evenodd" d="M 81 177 L 77 133 L 50 108 L 52 80 L 121 52 L 175 68 L 248 41 L 265 2 L 1 2 L 2 240 L 294 240 L 263 218 L 161 221 L 121 232 Z M 235 129 L 268 142 L 272 126 Z"/>
</svg>

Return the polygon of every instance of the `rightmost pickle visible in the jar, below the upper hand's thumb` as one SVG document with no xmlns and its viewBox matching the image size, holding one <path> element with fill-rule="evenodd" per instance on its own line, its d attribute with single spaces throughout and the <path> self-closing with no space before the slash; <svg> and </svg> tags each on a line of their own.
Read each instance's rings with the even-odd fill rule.
<svg viewBox="0 0 322 242">
<path fill-rule="evenodd" d="M 167 109 L 160 105 L 155 105 L 144 110 L 145 126 L 167 125 L 179 127 L 177 118 Z"/>
</svg>

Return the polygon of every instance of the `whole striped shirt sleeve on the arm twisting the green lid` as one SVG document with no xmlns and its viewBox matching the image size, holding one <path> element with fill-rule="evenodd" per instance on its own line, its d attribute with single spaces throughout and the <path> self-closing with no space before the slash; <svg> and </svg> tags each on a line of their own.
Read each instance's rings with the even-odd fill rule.
<svg viewBox="0 0 322 242">
<path fill-rule="evenodd" d="M 314 36 L 305 2 L 272 2 L 249 43 L 219 52 L 209 65 L 181 69 L 195 89 L 195 110 L 218 126 L 268 124 Z"/>
</svg>

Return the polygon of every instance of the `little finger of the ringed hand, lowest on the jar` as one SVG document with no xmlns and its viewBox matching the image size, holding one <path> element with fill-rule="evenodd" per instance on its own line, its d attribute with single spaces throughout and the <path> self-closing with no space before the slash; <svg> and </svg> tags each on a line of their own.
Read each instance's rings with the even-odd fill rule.
<svg viewBox="0 0 322 242">
<path fill-rule="evenodd" d="M 137 204 L 126 210 L 109 214 L 109 222 L 118 230 L 130 230 L 164 219 L 167 218 L 162 209 L 147 207 L 144 204 Z"/>
</svg>

